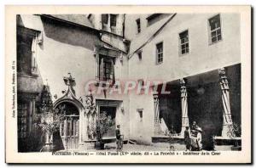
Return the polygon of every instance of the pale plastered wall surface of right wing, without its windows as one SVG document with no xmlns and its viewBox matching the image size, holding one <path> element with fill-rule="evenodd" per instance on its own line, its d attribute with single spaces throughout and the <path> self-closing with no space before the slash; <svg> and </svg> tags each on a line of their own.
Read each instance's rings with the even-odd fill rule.
<svg viewBox="0 0 256 168">
<path fill-rule="evenodd" d="M 160 34 L 154 37 L 154 40 L 143 47 L 143 59 L 141 61 L 138 59 L 137 54 L 131 57 L 129 60 L 130 78 L 133 80 L 174 81 L 240 63 L 240 15 L 220 14 L 223 40 L 215 44 L 209 44 L 207 21 L 214 15 L 177 14 Z M 126 21 L 128 21 L 127 18 L 129 16 L 126 16 Z M 141 16 L 141 18 L 144 17 Z M 136 27 L 135 20 L 137 18 L 130 17 L 129 20 L 131 25 Z M 145 20 L 141 20 L 141 22 L 145 24 Z M 148 29 L 154 29 L 154 27 L 149 26 Z M 189 30 L 189 53 L 180 56 L 178 34 L 187 29 Z M 132 36 L 133 33 L 131 39 L 137 36 L 136 29 L 132 29 L 129 33 L 126 30 L 126 33 L 129 36 Z M 158 42 L 164 42 L 164 61 L 162 64 L 155 64 L 155 44 Z M 130 97 L 131 118 L 136 115 L 138 106 L 142 109 L 147 109 L 145 110 L 145 115 L 143 115 L 145 117 L 145 132 L 148 132 L 148 129 L 151 129 L 154 125 L 152 121 L 154 118 L 153 96 L 151 96 L 151 102 L 149 99 L 149 96 L 141 95 Z M 135 127 L 139 128 L 140 126 L 137 122 L 131 120 L 131 132 L 133 131 L 132 128 Z M 148 136 L 152 135 L 148 134 Z M 134 136 L 136 136 L 136 133 Z M 144 139 L 149 138 L 144 137 Z"/>
</svg>

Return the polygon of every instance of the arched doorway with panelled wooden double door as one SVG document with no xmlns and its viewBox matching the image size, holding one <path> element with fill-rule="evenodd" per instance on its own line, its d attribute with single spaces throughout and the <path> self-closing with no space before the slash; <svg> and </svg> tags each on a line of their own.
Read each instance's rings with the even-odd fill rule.
<svg viewBox="0 0 256 168">
<path fill-rule="evenodd" d="M 65 149 L 79 148 L 79 109 L 71 102 L 56 105 L 61 109 L 63 121 L 60 124 L 61 143 Z"/>
</svg>

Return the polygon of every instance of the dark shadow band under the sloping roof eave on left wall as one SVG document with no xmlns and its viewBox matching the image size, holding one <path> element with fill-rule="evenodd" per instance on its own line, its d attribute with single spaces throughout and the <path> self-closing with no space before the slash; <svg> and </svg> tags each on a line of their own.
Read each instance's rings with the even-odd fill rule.
<svg viewBox="0 0 256 168">
<path fill-rule="evenodd" d="M 45 36 L 57 42 L 87 48 L 93 51 L 95 45 L 100 45 L 97 32 L 86 27 L 70 25 L 60 20 L 41 16 Z"/>
</svg>

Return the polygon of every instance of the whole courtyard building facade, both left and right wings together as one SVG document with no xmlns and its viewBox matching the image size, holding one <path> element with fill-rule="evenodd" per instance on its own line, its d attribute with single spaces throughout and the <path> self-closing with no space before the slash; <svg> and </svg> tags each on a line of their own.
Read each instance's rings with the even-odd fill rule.
<svg viewBox="0 0 256 168">
<path fill-rule="evenodd" d="M 241 124 L 239 20 L 239 14 L 18 15 L 18 112 L 26 118 L 19 135 L 30 135 L 50 88 L 53 107 L 67 111 L 60 128 L 66 149 L 95 141 L 90 132 L 103 111 L 125 140 L 137 143 L 170 130 L 182 137 L 193 120 L 211 136 L 229 138 L 225 128 Z M 119 81 L 154 92 L 111 93 L 127 87 Z M 92 92 L 88 83 L 104 89 Z M 157 92 L 164 85 L 171 93 Z M 115 126 L 103 138 L 114 141 Z"/>
</svg>

